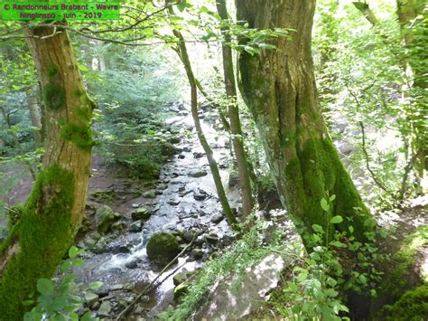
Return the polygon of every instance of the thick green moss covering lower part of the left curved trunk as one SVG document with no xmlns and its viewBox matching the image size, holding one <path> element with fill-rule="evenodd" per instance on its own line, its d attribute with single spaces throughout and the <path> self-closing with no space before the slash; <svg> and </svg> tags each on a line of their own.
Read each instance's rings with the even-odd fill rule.
<svg viewBox="0 0 428 321">
<path fill-rule="evenodd" d="M 19 245 L 1 274 L 2 320 L 22 320 L 28 308 L 23 300 L 35 292 L 37 279 L 51 278 L 70 248 L 73 190 L 73 175 L 56 165 L 39 174 L 22 218 L 0 248 L 0 255 L 4 255 L 15 242 Z"/>
</svg>

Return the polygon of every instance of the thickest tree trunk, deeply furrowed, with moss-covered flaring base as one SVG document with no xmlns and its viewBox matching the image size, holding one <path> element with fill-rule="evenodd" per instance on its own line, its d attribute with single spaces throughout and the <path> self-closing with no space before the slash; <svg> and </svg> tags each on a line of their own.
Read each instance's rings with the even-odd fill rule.
<svg viewBox="0 0 428 321">
<path fill-rule="evenodd" d="M 276 50 L 240 54 L 240 90 L 256 119 L 281 202 L 301 235 L 312 232 L 312 224 L 332 230 L 320 202 L 335 194 L 331 216 L 344 219 L 335 228 L 348 231 L 352 224 L 364 240 L 373 226 L 367 220 L 373 218 L 321 117 L 311 55 L 314 9 L 314 0 L 237 0 L 237 20 L 247 21 L 250 28 L 296 30 L 291 40 L 273 40 Z"/>
</svg>

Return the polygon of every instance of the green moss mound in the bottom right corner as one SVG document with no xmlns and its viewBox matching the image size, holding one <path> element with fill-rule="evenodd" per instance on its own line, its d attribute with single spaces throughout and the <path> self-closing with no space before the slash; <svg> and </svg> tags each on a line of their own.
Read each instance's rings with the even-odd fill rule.
<svg viewBox="0 0 428 321">
<path fill-rule="evenodd" d="M 428 319 L 428 284 L 405 292 L 392 306 L 382 309 L 385 320 L 427 320 Z"/>
</svg>

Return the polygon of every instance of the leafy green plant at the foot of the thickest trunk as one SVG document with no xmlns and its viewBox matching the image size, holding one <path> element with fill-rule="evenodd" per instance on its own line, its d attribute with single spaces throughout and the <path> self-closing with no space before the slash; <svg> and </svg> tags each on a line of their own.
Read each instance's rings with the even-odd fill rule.
<svg viewBox="0 0 428 321">
<path fill-rule="evenodd" d="M 321 199 L 321 208 L 331 217 L 335 195 Z M 376 296 L 376 286 L 382 272 L 376 269 L 376 262 L 386 260 L 379 254 L 376 240 L 367 235 L 368 241 L 360 242 L 349 231 L 334 231 L 344 219 L 337 215 L 330 218 L 324 230 L 321 225 L 312 225 L 312 234 L 304 236 L 312 246 L 312 252 L 292 270 L 291 280 L 287 281 L 272 299 L 278 312 L 293 320 L 340 320 L 343 312 L 349 312 L 341 297 L 349 289 L 364 293 L 370 290 Z M 369 222 L 368 222 L 369 223 Z M 330 232 L 334 231 L 331 238 Z M 339 252 L 342 252 L 340 255 Z M 347 255 L 348 252 L 350 255 Z M 347 259 L 343 259 L 347 258 Z M 352 263 L 352 258 L 357 262 Z"/>
</svg>

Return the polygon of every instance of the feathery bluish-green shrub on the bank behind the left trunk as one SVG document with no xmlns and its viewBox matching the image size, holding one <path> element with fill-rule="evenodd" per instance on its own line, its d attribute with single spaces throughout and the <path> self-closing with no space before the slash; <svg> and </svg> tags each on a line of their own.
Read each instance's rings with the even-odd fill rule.
<svg viewBox="0 0 428 321">
<path fill-rule="evenodd" d="M 102 113 L 95 126 L 96 153 L 107 164 L 124 165 L 131 175 L 155 178 L 174 152 L 171 137 L 163 133 L 172 128 L 164 119 L 170 115 L 168 106 L 178 95 L 180 81 L 167 72 L 171 68 L 165 65 L 167 58 L 154 51 L 113 46 L 103 51 L 98 54 L 106 70 L 87 72 L 92 80 L 89 91 Z"/>
</svg>

